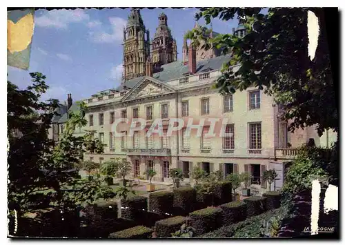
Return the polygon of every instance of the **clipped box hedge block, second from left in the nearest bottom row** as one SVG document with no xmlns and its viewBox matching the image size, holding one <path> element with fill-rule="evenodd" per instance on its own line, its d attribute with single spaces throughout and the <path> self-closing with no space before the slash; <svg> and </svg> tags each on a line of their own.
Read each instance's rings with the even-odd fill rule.
<svg viewBox="0 0 345 245">
<path fill-rule="evenodd" d="M 168 219 L 162 219 L 156 222 L 155 231 L 157 237 L 171 237 L 171 233 L 175 233 L 181 228 L 182 224 L 187 221 L 186 217 L 176 216 Z"/>
</svg>

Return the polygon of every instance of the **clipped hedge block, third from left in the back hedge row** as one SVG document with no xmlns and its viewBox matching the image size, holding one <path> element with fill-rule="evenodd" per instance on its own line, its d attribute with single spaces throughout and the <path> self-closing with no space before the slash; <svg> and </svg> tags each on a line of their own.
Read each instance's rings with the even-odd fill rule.
<svg viewBox="0 0 345 245">
<path fill-rule="evenodd" d="M 159 214 L 172 213 L 174 194 L 170 191 L 150 193 L 148 201 L 150 212 Z"/>
</svg>

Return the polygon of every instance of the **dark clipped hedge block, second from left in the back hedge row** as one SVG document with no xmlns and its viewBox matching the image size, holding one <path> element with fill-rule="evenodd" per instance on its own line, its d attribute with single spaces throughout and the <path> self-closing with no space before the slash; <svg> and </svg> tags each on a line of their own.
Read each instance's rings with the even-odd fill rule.
<svg viewBox="0 0 345 245">
<path fill-rule="evenodd" d="M 125 219 L 141 219 L 144 210 L 148 209 L 148 198 L 143 196 L 128 197 L 121 200 L 121 217 Z"/>
</svg>

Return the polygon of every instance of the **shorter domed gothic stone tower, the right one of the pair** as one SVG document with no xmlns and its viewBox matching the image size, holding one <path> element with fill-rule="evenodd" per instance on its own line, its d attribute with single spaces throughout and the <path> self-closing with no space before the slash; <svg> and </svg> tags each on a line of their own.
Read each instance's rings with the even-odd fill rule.
<svg viewBox="0 0 345 245">
<path fill-rule="evenodd" d="M 161 66 L 177 60 L 176 40 L 172 39 L 168 28 L 168 17 L 162 13 L 158 17 L 159 23 L 152 41 L 152 63 Z"/>
</svg>

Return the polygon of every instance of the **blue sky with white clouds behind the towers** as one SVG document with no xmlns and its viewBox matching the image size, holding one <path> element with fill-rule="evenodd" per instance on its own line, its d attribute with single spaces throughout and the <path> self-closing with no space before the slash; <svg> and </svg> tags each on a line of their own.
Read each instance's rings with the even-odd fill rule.
<svg viewBox="0 0 345 245">
<path fill-rule="evenodd" d="M 8 66 L 8 80 L 25 88 L 29 72 L 42 72 L 50 89 L 42 99 L 74 101 L 86 99 L 95 92 L 115 88 L 121 82 L 123 28 L 130 10 L 37 10 L 29 71 Z M 181 59 L 184 33 L 195 25 L 195 8 L 185 10 L 141 10 L 150 38 L 155 35 L 158 15 L 168 16 L 168 26 L 177 40 L 177 58 Z M 204 21 L 199 21 L 204 25 Z M 213 30 L 230 33 L 233 21 L 213 20 Z"/>
</svg>

